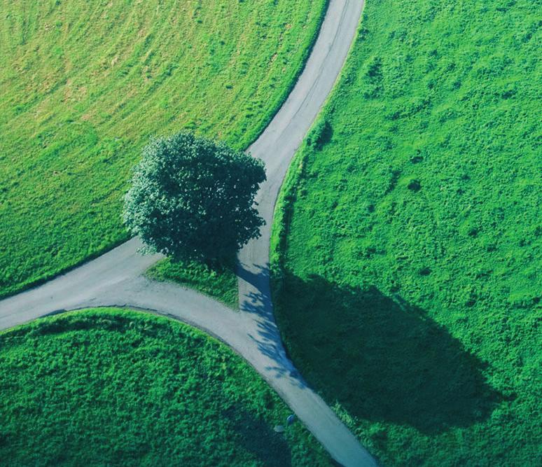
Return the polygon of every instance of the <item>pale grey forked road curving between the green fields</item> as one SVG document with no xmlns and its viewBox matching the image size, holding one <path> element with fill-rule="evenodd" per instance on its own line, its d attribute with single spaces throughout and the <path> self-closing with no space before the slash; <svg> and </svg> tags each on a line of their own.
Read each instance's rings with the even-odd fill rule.
<svg viewBox="0 0 542 467">
<path fill-rule="evenodd" d="M 331 92 L 354 37 L 363 0 L 331 0 L 319 37 L 296 87 L 249 151 L 265 161 L 260 188 L 262 236 L 239 253 L 239 307 L 228 307 L 175 284 L 141 274 L 160 255 L 137 253 L 132 239 L 43 286 L 0 301 L 0 329 L 69 309 L 118 305 L 148 309 L 206 330 L 246 358 L 345 466 L 375 466 L 354 435 L 286 358 L 272 312 L 268 274 L 270 227 L 279 188 L 303 137 Z"/>
</svg>

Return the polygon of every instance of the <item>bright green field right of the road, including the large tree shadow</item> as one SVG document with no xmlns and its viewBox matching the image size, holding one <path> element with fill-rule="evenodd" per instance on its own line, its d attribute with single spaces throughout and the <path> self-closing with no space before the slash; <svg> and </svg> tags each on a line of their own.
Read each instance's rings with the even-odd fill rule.
<svg viewBox="0 0 542 467">
<path fill-rule="evenodd" d="M 300 371 L 387 466 L 542 462 L 540 1 L 368 1 L 277 209 Z"/>
</svg>

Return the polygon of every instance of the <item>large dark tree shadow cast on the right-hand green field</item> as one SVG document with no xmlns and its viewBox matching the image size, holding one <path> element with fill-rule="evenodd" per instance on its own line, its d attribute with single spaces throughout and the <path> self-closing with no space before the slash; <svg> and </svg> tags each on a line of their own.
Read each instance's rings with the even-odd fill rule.
<svg viewBox="0 0 542 467">
<path fill-rule="evenodd" d="M 285 274 L 274 285 L 293 361 L 355 417 L 438 433 L 487 418 L 502 400 L 485 363 L 422 309 L 319 276 Z"/>
</svg>

